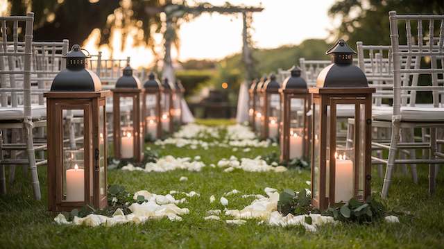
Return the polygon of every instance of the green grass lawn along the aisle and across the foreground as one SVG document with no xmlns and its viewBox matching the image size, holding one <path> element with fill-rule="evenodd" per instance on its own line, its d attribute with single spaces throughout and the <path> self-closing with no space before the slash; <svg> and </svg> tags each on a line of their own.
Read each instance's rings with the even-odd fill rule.
<svg viewBox="0 0 444 249">
<path fill-rule="evenodd" d="M 219 121 L 205 121 L 207 124 Z M 207 151 L 166 146 L 161 155 L 194 157 L 200 155 L 206 164 L 222 157 L 256 157 L 278 148 L 257 148 L 245 153 L 229 148 L 211 148 Z M 413 184 L 408 176 L 397 174 L 386 202 L 390 209 L 410 212 L 400 216 L 400 224 L 383 221 L 370 225 L 325 225 L 318 232 L 305 232 L 302 227 L 271 227 L 248 221 L 245 225 L 227 225 L 223 221 L 205 221 L 209 209 L 223 209 L 210 204 L 212 194 L 219 200 L 226 191 L 238 189 L 243 194 L 264 194 L 265 187 L 300 189 L 308 187 L 309 171 L 284 173 L 247 173 L 204 168 L 203 171 L 170 171 L 167 173 L 140 173 L 111 170 L 109 184 L 123 184 L 128 191 L 146 189 L 155 194 L 170 190 L 191 191 L 198 198 L 187 198 L 181 204 L 190 213 L 183 221 L 171 222 L 167 218 L 148 221 L 142 225 L 116 225 L 114 227 L 82 227 L 56 225 L 54 214 L 46 211 L 46 168 L 40 167 L 42 201 L 33 200 L 30 184 L 22 171 L 17 170 L 17 182 L 0 196 L 0 248 L 443 248 L 444 246 L 444 173 L 438 175 L 438 190 L 427 195 L 427 168 L 420 167 L 419 183 Z M 187 182 L 179 182 L 180 176 Z M 373 171 L 373 195 L 379 198 L 382 180 Z M 229 208 L 241 209 L 252 199 L 230 196 Z M 225 217 L 222 217 L 225 220 Z"/>
</svg>

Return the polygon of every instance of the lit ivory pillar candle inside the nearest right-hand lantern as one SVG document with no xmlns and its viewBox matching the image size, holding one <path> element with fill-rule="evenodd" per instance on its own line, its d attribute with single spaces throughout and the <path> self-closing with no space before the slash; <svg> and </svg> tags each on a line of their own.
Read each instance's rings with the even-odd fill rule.
<svg viewBox="0 0 444 249">
<path fill-rule="evenodd" d="M 334 153 L 335 175 L 334 175 L 334 202 L 348 202 L 353 196 L 353 161 L 345 158 L 345 153 L 339 155 Z M 330 162 L 327 160 L 327 177 L 330 175 Z"/>
</svg>

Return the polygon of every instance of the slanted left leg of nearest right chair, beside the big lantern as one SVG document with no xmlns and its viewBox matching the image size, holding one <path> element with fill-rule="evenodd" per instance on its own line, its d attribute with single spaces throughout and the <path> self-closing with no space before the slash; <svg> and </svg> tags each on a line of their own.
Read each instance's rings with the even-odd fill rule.
<svg viewBox="0 0 444 249">
<path fill-rule="evenodd" d="M 384 184 L 382 185 L 381 198 L 387 198 L 388 188 L 391 184 L 391 175 L 393 173 L 393 166 L 395 165 L 395 157 L 398 152 L 398 141 L 400 141 L 400 120 L 393 119 L 393 127 L 391 130 L 390 149 L 388 150 L 388 159 L 386 165 L 386 175 L 384 177 Z"/>
</svg>

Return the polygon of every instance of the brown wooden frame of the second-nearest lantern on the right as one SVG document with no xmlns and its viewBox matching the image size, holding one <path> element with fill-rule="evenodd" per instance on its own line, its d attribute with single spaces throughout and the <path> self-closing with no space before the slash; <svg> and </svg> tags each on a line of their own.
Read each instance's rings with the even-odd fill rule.
<svg viewBox="0 0 444 249">
<path fill-rule="evenodd" d="M 311 142 L 311 120 L 307 117 L 311 105 L 311 95 L 308 89 L 290 88 L 279 89 L 282 108 L 280 121 L 280 161 L 289 162 L 290 158 L 290 129 L 291 129 L 291 99 L 300 99 L 303 103 L 303 124 L 302 127 L 302 158 L 307 160 L 310 152 Z"/>
</svg>

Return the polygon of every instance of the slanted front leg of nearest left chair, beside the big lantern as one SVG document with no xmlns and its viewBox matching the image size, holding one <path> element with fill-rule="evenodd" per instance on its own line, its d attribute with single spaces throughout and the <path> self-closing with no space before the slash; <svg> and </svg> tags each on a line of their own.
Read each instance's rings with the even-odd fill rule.
<svg viewBox="0 0 444 249">
<path fill-rule="evenodd" d="M 26 129 L 26 136 L 24 137 L 24 139 L 26 141 L 26 152 L 28 154 L 29 170 L 31 171 L 31 184 L 33 185 L 34 189 L 34 198 L 35 200 L 40 200 L 42 198 L 42 194 L 40 192 L 40 182 L 37 172 L 37 165 L 35 164 L 33 123 L 25 119 L 24 126 Z"/>
</svg>

